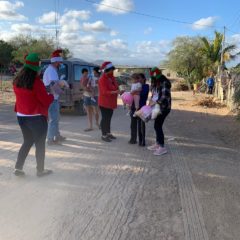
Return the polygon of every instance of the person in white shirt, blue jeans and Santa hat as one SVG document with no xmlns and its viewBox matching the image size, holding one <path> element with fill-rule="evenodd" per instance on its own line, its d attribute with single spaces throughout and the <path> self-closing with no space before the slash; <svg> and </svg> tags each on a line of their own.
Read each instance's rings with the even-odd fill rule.
<svg viewBox="0 0 240 240">
<path fill-rule="evenodd" d="M 58 49 L 51 54 L 51 64 L 49 64 L 43 74 L 43 83 L 47 89 L 49 89 L 51 85 L 54 85 L 54 83 L 59 81 L 58 67 L 63 61 L 60 53 L 62 53 L 62 50 Z M 65 137 L 61 136 L 59 131 L 60 105 L 58 99 L 59 93 L 54 92 L 54 101 L 50 105 L 48 111 L 48 145 L 60 145 L 62 141 L 66 140 Z"/>
</svg>

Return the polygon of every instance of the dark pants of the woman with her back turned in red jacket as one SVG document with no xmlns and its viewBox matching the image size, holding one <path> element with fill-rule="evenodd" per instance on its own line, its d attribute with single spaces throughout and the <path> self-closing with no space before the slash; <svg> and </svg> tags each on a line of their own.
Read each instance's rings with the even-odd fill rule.
<svg viewBox="0 0 240 240">
<path fill-rule="evenodd" d="M 23 134 L 23 144 L 19 150 L 15 168 L 23 169 L 27 155 L 35 144 L 35 156 L 37 160 L 37 170 L 44 170 L 45 141 L 47 136 L 47 119 L 45 116 L 18 117 L 18 123 Z"/>
</svg>

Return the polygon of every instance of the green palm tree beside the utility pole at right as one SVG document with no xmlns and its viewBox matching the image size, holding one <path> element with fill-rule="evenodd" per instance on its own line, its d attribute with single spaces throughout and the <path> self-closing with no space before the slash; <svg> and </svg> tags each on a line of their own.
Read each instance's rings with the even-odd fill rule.
<svg viewBox="0 0 240 240">
<path fill-rule="evenodd" d="M 226 61 L 234 60 L 240 52 L 231 54 L 237 46 L 235 44 L 228 45 L 222 50 L 223 34 L 215 31 L 215 38 L 209 41 L 206 37 L 201 37 L 203 47 L 201 53 L 206 57 L 206 70 L 216 72 L 217 67 L 221 63 L 221 55 L 223 52 L 223 64 Z"/>
</svg>

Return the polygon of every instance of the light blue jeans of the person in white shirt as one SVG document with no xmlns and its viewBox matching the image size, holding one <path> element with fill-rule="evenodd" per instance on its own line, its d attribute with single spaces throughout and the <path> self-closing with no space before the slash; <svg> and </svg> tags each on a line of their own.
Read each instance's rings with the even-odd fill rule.
<svg viewBox="0 0 240 240">
<path fill-rule="evenodd" d="M 59 132 L 59 118 L 60 106 L 58 100 L 54 100 L 48 109 L 48 133 L 47 139 L 54 140 L 54 137 L 60 136 Z"/>
</svg>

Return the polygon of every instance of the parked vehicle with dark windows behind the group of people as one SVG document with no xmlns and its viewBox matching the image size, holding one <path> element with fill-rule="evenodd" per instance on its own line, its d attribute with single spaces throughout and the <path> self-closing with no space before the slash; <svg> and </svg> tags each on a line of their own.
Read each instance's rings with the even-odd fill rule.
<svg viewBox="0 0 240 240">
<path fill-rule="evenodd" d="M 41 61 L 41 78 L 49 64 L 50 59 Z M 93 75 L 93 68 L 96 66 L 96 64 L 75 58 L 63 61 L 58 69 L 59 78 L 67 81 L 69 89 L 64 89 L 64 93 L 61 94 L 59 98 L 61 108 L 71 108 L 75 114 L 85 115 L 83 107 L 83 89 L 80 87 L 82 69 L 87 68 L 89 73 Z"/>
</svg>

